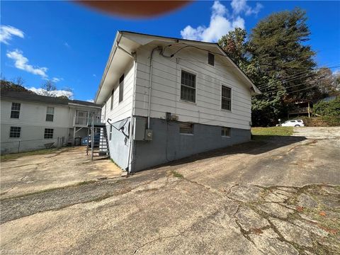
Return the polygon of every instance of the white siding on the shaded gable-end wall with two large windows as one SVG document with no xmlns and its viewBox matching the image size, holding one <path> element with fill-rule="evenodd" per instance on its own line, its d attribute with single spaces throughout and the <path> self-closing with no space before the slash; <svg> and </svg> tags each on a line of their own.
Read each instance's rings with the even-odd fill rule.
<svg viewBox="0 0 340 255">
<path fill-rule="evenodd" d="M 134 115 L 147 116 L 151 50 L 152 46 L 144 46 L 137 51 Z M 165 113 L 171 112 L 180 121 L 250 129 L 250 89 L 232 72 L 234 67 L 226 67 L 218 55 L 212 67 L 208 64 L 208 52 L 196 49 L 181 50 L 171 59 L 158 53 L 154 53 L 152 67 L 152 118 L 165 118 Z M 196 74 L 195 103 L 181 101 L 182 69 Z M 232 111 L 221 108 L 222 85 L 232 89 Z"/>
</svg>

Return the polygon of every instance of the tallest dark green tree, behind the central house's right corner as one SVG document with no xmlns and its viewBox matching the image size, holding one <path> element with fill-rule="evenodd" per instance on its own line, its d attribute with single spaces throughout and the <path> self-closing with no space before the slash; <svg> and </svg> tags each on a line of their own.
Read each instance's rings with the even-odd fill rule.
<svg viewBox="0 0 340 255">
<path fill-rule="evenodd" d="M 273 125 L 295 98 L 305 98 L 314 77 L 315 53 L 306 45 L 310 30 L 305 11 L 273 13 L 249 36 L 246 74 L 263 94 L 252 100 L 253 124 Z M 252 72 L 250 72 L 252 70 Z"/>
</svg>

